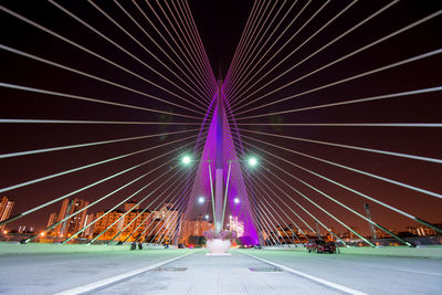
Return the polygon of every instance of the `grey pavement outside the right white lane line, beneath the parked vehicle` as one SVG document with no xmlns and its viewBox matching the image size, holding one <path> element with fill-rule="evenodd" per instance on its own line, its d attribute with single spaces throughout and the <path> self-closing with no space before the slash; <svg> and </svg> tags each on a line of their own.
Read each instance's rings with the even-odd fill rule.
<svg viewBox="0 0 442 295">
<path fill-rule="evenodd" d="M 442 294 L 441 257 L 244 252 L 368 294 Z"/>
</svg>

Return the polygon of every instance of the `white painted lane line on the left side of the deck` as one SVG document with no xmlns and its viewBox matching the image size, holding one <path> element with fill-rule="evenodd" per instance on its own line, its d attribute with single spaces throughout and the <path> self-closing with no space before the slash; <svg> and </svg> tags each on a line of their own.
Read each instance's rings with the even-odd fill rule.
<svg viewBox="0 0 442 295">
<path fill-rule="evenodd" d="M 76 295 L 76 294 L 83 294 L 83 293 L 92 292 L 92 291 L 95 291 L 97 288 L 104 287 L 106 285 L 114 284 L 114 283 L 117 283 L 119 281 L 129 278 L 131 276 L 148 272 L 148 271 L 150 271 L 150 270 L 152 270 L 155 267 L 161 266 L 164 264 L 168 264 L 170 262 L 173 262 L 176 260 L 186 257 L 186 256 L 194 254 L 194 253 L 196 252 L 189 253 L 189 254 L 186 254 L 186 255 L 181 255 L 181 256 L 178 256 L 178 257 L 175 257 L 175 259 L 171 259 L 171 260 L 162 261 L 162 262 L 159 262 L 159 263 L 155 263 L 155 264 L 151 264 L 151 265 L 147 265 L 145 267 L 141 267 L 141 268 L 138 268 L 138 270 L 135 270 L 135 271 L 131 271 L 131 272 L 127 272 L 127 273 L 119 274 L 119 275 L 116 275 L 116 276 L 110 276 L 110 277 L 107 277 L 107 278 L 91 283 L 91 284 L 86 284 L 86 285 L 83 285 L 83 286 L 80 286 L 80 287 L 74 287 L 74 288 L 71 288 L 71 289 L 67 289 L 67 291 L 55 293 L 55 295 Z"/>
</svg>

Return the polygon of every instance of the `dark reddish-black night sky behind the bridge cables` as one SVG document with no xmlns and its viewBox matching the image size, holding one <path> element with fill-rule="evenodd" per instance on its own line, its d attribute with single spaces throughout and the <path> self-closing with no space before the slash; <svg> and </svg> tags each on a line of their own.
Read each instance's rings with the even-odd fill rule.
<svg viewBox="0 0 442 295">
<path fill-rule="evenodd" d="M 147 15 L 151 18 L 160 32 L 166 35 L 166 30 L 164 30 L 160 22 L 155 18 L 154 13 L 151 13 L 151 10 L 146 2 L 136 2 L 147 13 Z M 406 225 L 417 225 L 417 223 L 410 219 L 403 218 L 377 203 L 367 201 L 355 193 L 327 182 L 324 179 L 290 164 L 293 162 L 429 222 L 442 222 L 440 213 L 442 209 L 442 200 L 436 197 L 431 197 L 422 192 L 387 183 L 379 179 L 373 179 L 368 176 L 334 167 L 329 164 L 320 162 L 288 150 L 308 154 L 313 157 L 345 165 L 354 169 L 359 169 L 368 173 L 400 181 L 440 194 L 442 194 L 441 164 L 403 159 L 400 157 L 276 137 L 292 136 L 442 159 L 442 133 L 440 127 L 287 126 L 287 124 L 301 123 L 441 123 L 441 92 L 398 96 L 389 99 L 326 107 L 314 110 L 267 115 L 269 113 L 286 112 L 295 108 L 441 86 L 442 59 L 441 54 L 436 54 L 387 71 L 381 71 L 335 86 L 299 95 L 282 103 L 274 103 L 291 95 L 301 94 L 322 85 L 441 49 L 442 15 L 428 20 L 415 28 L 407 30 L 366 51 L 324 69 L 314 75 L 302 78 L 293 85 L 283 87 L 280 91 L 265 96 L 269 92 L 285 86 L 291 81 L 297 80 L 323 65 L 354 52 L 355 50 L 419 21 L 427 15 L 440 11 L 442 4 L 439 2 L 440 1 L 400 1 L 329 48 L 312 56 L 308 61 L 301 63 L 299 66 L 290 71 L 286 75 L 255 92 L 259 87 L 267 84 L 284 71 L 299 63 L 336 36 L 346 32 L 361 20 L 390 3 L 390 1 L 356 2 L 351 8 L 305 44 L 303 44 L 305 40 L 319 30 L 319 28 L 326 24 L 337 13 L 344 10 L 351 3 L 351 1 L 329 1 L 317 17 L 312 19 L 312 21 L 309 21 L 309 23 L 302 30 L 299 30 L 299 28 L 302 28 L 303 24 L 308 21 L 322 6 L 324 6 L 324 1 L 312 1 L 291 27 L 288 27 L 290 22 L 295 18 L 301 9 L 306 6 L 307 1 L 299 0 L 291 11 L 288 11 L 288 7 L 293 3 L 292 1 L 272 1 L 270 3 L 266 13 L 269 13 L 274 3 L 276 4 L 273 12 L 270 14 L 267 22 L 271 21 L 281 6 L 283 6 L 283 8 L 280 10 L 280 14 L 275 18 L 270 30 L 267 30 L 267 33 L 262 39 L 261 45 L 267 40 L 269 42 L 260 54 L 257 54 L 257 51 L 261 49 L 261 45 L 257 46 L 252 57 L 256 56 L 256 62 L 257 59 L 263 56 L 264 52 L 271 46 L 271 44 L 274 44 L 274 46 L 269 54 L 264 55 L 262 62 L 255 67 L 255 71 L 244 71 L 239 75 L 241 77 L 240 81 L 248 82 L 248 86 L 240 91 L 240 93 L 244 93 L 244 89 L 248 89 L 248 87 L 255 83 L 262 75 L 266 74 L 266 76 L 264 76 L 262 81 L 257 82 L 253 88 L 246 91 L 245 95 L 231 97 L 233 101 L 230 102 L 231 105 L 233 105 L 233 113 L 240 129 L 245 152 L 253 152 L 260 158 L 260 168 L 252 172 L 253 180 L 250 182 L 252 185 L 254 183 L 253 186 L 257 199 L 266 198 L 266 200 L 269 200 L 269 198 L 273 196 L 273 200 L 284 207 L 283 203 L 274 197 L 276 193 L 314 226 L 312 219 L 291 202 L 287 196 L 278 191 L 278 189 L 282 189 L 284 192 L 305 206 L 305 208 L 312 210 L 312 212 L 324 223 L 334 226 L 337 229 L 337 232 L 344 231 L 343 226 L 338 225 L 325 213 L 315 209 L 308 201 L 304 200 L 291 188 L 277 180 L 277 178 L 281 178 L 312 198 L 315 202 L 318 202 L 344 222 L 357 226 L 364 233 L 368 233 L 366 221 L 358 219 L 348 211 L 345 211 L 345 209 L 336 206 L 329 200 L 326 200 L 314 190 L 292 178 L 290 176 L 292 175 L 311 183 L 327 194 L 333 196 L 362 214 L 365 213 L 362 208 L 364 203 L 369 203 L 373 220 L 389 229 L 402 230 Z M 185 83 L 169 73 L 164 65 L 147 53 L 145 49 L 148 49 L 151 53 L 159 56 L 167 66 L 175 70 L 173 63 L 166 57 L 155 43 L 149 40 L 114 2 L 96 1 L 96 4 L 125 28 L 127 32 L 133 34 L 135 39 L 139 40 L 139 42 L 144 44 L 145 49 L 134 42 L 134 40 L 119 30 L 115 24 L 109 22 L 108 19 L 106 19 L 87 1 L 56 1 L 56 3 L 74 13 L 96 30 L 103 32 L 106 36 L 120 44 L 131 54 L 138 56 L 146 64 L 169 77 L 173 83 L 176 83 L 176 85 L 179 85 L 187 92 L 192 92 L 192 89 L 185 85 Z M 144 19 L 143 14 L 137 10 L 133 2 L 119 1 L 119 3 L 134 17 L 134 19 L 139 21 L 139 23 L 143 23 L 145 30 L 151 34 L 152 39 L 158 42 L 168 54 L 173 54 L 154 28 L 146 21 L 146 19 Z M 159 9 L 158 3 L 155 1 L 150 1 L 150 3 L 160 14 L 161 10 Z M 167 10 L 167 6 L 162 1 L 160 3 L 162 8 Z M 264 6 L 267 3 L 269 2 L 263 2 Z M 135 77 L 128 72 L 122 71 L 96 56 L 92 56 L 90 53 L 76 49 L 71 44 L 67 44 L 66 42 L 63 42 L 46 32 L 42 32 L 29 23 L 1 11 L 2 45 L 63 64 L 64 66 L 87 72 L 91 75 L 96 75 L 113 81 L 114 83 L 125 85 L 126 87 L 187 107 L 187 109 L 185 109 L 176 105 L 173 106 L 151 99 L 133 91 L 115 87 L 91 77 L 85 77 L 56 66 L 27 59 L 4 49 L 1 50 L 0 82 L 2 83 L 87 96 L 145 108 L 155 108 L 167 113 L 160 114 L 155 112 L 136 110 L 61 96 L 0 87 L 0 115 L 2 119 L 160 123 L 156 125 L 2 123 L 0 124 L 2 134 L 0 154 L 165 134 L 146 139 L 0 159 L 0 187 L 7 188 L 43 176 L 57 173 L 91 162 L 165 144 L 164 147 L 140 152 L 120 160 L 57 177 L 48 181 L 42 181 L 36 185 L 27 186 L 24 188 L 1 192 L 0 196 L 7 196 L 15 200 L 13 214 L 18 214 L 43 202 L 112 176 L 120 170 L 128 169 L 140 162 L 154 159 L 157 156 L 161 156 L 164 152 L 170 151 L 169 155 L 152 160 L 140 168 L 130 170 L 124 176 L 116 177 L 110 181 L 106 181 L 105 183 L 75 194 L 76 197 L 94 201 L 124 186 L 136 177 L 151 171 L 152 169 L 157 169 L 154 173 L 148 175 L 139 182 L 118 191 L 105 202 L 102 202 L 90 210 L 90 212 L 98 212 L 112 208 L 115 203 L 127 198 L 130 193 L 140 189 L 149 181 L 154 181 L 158 176 L 160 176 L 160 173 L 170 170 L 169 172 L 171 175 L 171 170 L 177 169 L 172 168 L 177 164 L 176 157 L 192 150 L 198 136 L 199 124 L 202 123 L 206 114 L 203 109 L 208 108 L 208 105 L 204 105 L 201 98 L 194 98 L 178 89 L 170 82 L 165 81 L 140 62 L 128 56 L 50 2 L 27 1 L 24 3 L 24 1 L 2 1 L 1 4 L 4 8 L 44 25 L 45 28 L 53 30 L 60 35 L 69 38 L 71 41 L 76 42 L 91 51 L 96 52 L 101 56 L 120 64 L 154 83 L 158 83 L 165 88 L 177 93 L 179 96 L 202 107 L 202 109 L 198 109 L 179 97 L 171 95 L 167 91 L 159 89 L 158 87 L 146 83 L 146 81 Z M 214 75 L 218 75 L 221 66 L 222 74 L 225 76 L 249 14 L 252 11 L 253 1 L 193 0 L 189 1 L 189 7 Z M 173 8 L 171 7 L 171 9 Z M 287 18 L 270 38 L 272 31 L 276 29 L 276 23 L 287 11 Z M 266 13 L 263 14 L 264 18 L 267 15 Z M 166 21 L 165 18 L 162 18 L 162 20 Z M 288 29 L 285 34 L 276 42 L 276 39 L 286 28 Z M 266 27 L 264 27 L 261 32 L 265 29 Z M 299 32 L 296 38 L 294 38 L 287 45 L 284 45 L 285 42 L 298 30 Z M 170 39 L 168 39 L 168 41 L 171 42 Z M 302 46 L 296 50 L 299 45 Z M 172 48 L 177 52 L 179 51 L 176 45 L 172 45 Z M 281 52 L 275 55 L 275 52 L 280 49 L 282 49 Z M 295 50 L 296 52 L 291 55 Z M 276 63 L 288 55 L 290 57 L 286 59 L 284 63 L 273 70 L 273 66 L 275 66 Z M 273 60 L 269 62 L 267 65 L 263 66 L 263 64 L 271 59 Z M 176 62 L 181 65 L 178 60 L 176 60 Z M 260 73 L 253 77 L 257 70 L 260 70 Z M 186 82 L 190 83 L 181 72 L 177 71 L 176 73 L 183 77 Z M 241 83 L 240 85 L 234 86 L 238 89 L 243 84 Z M 252 95 L 249 97 L 248 95 L 250 94 Z M 246 99 L 241 101 L 244 97 Z M 209 98 L 211 97 L 208 97 L 208 99 Z M 240 99 L 236 101 L 236 98 Z M 257 98 L 259 101 L 254 102 L 254 99 Z M 264 104 L 269 105 L 264 106 Z M 194 110 L 198 110 L 198 113 Z M 255 115 L 263 116 L 249 118 L 249 116 Z M 186 138 L 189 136 L 192 137 Z M 169 144 L 173 140 L 176 140 L 176 143 Z M 285 149 L 283 150 L 277 147 L 283 147 Z M 275 156 L 284 158 L 290 162 L 277 159 Z M 182 177 L 186 176 L 186 171 L 179 171 L 179 173 Z M 165 179 L 158 180 L 158 182 L 155 182 L 152 187 L 155 188 L 155 186 L 167 181 Z M 265 191 L 261 189 L 261 186 L 263 186 L 262 183 L 269 186 L 267 189 L 264 189 Z M 167 188 L 167 190 L 171 190 L 171 188 Z M 269 196 L 266 193 L 269 193 Z M 135 199 L 139 200 L 141 197 L 136 196 Z M 161 201 L 162 199 L 159 200 L 159 202 Z M 152 208 L 157 203 L 152 204 Z M 36 211 L 9 224 L 8 228 L 14 229 L 19 225 L 34 225 L 39 230 L 43 229 L 48 221 L 49 213 L 59 211 L 60 204 L 61 202 L 57 202 L 44 208 L 43 210 Z M 147 203 L 144 203 L 144 206 Z M 288 209 L 284 210 L 291 214 Z M 287 222 L 291 223 L 290 221 Z M 301 225 L 302 223 L 299 222 L 298 224 Z"/>
</svg>

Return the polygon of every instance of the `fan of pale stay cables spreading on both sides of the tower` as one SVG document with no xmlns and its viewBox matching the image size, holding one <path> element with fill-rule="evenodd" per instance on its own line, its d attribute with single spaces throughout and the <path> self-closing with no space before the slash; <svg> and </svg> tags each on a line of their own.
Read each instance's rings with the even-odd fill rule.
<svg viewBox="0 0 442 295">
<path fill-rule="evenodd" d="M 370 7 L 357 0 L 253 2 L 220 98 L 227 115 L 223 124 L 231 130 L 225 137 L 227 146 L 233 147 L 229 155 L 261 155 L 262 162 L 253 170 L 232 164 L 241 180 L 232 179 L 231 186 L 246 191 L 251 218 L 265 244 L 322 239 L 320 225 L 344 245 L 348 240 L 338 231 L 375 246 L 375 236 L 367 238 L 356 223 L 414 246 L 392 230 L 398 225 L 390 223 L 398 217 L 402 223 L 411 220 L 413 225 L 442 232 L 434 213 L 432 222 L 421 218 L 442 199 L 432 178 L 441 171 L 442 159 L 429 145 L 436 145 L 442 127 L 431 109 L 442 91 L 440 81 L 432 78 L 442 74 L 438 70 L 442 44 L 421 33 L 440 24 L 442 9 L 422 9 L 394 22 L 392 15 L 403 13 L 404 6 L 398 0 Z M 52 113 L 50 107 L 40 113 L 11 107 L 12 115 L 0 118 L 0 125 L 11 126 L 20 136 L 33 129 L 42 134 L 35 143 L 25 143 L 24 150 L 7 147 L 0 160 L 50 164 L 48 169 L 32 168 L 29 176 L 20 173 L 20 181 L 2 181 L 0 192 L 15 193 L 21 204 L 20 213 L 0 225 L 17 224 L 30 214 L 41 219 L 49 207 L 88 196 L 91 203 L 23 240 L 54 232 L 87 210 L 103 211 L 60 239 L 65 244 L 86 236 L 112 212 L 138 198 L 87 242 L 177 243 L 180 224 L 191 218 L 187 208 L 208 182 L 193 187 L 198 167 L 185 169 L 177 162 L 189 151 L 196 159 L 202 157 L 219 93 L 189 3 L 115 0 L 105 6 L 90 0 L 76 8 L 49 0 L 39 9 L 56 11 L 55 19 L 80 33 L 18 6 L 0 6 L 13 25 L 44 35 L 41 45 L 32 46 L 6 40 L 0 44 L 2 54 L 29 63 L 30 72 L 48 71 L 54 81 L 56 75 L 63 77 L 60 85 L 25 73 L 0 81 L 10 99 L 53 104 Z M 385 30 L 376 31 L 375 22 L 385 23 Z M 370 30 L 372 35 L 366 35 Z M 45 52 L 54 44 L 69 54 Z M 434 73 L 422 70 L 432 63 Z M 84 87 L 78 88 L 78 82 Z M 70 107 L 80 110 L 78 116 L 72 118 Z M 411 108 L 415 113 L 410 114 Z M 84 127 L 95 137 L 83 134 Z M 412 136 L 422 143 L 415 145 Z M 61 155 L 64 162 L 59 164 Z M 71 185 L 60 189 L 56 181 Z M 35 192 L 45 196 L 42 202 L 21 201 Z M 377 218 L 359 212 L 365 202 L 379 212 Z M 422 208 L 410 206 L 413 202 Z M 172 206 L 161 211 L 165 203 Z M 164 214 L 162 221 L 152 222 L 152 212 Z M 241 209 L 239 219 L 245 214 Z"/>
</svg>

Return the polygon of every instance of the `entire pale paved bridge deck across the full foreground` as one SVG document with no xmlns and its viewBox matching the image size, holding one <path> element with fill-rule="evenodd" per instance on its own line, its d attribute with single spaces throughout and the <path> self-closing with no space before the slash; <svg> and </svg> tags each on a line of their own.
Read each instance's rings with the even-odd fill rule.
<svg viewBox="0 0 442 295">
<path fill-rule="evenodd" d="M 196 253 L 194 253 L 196 252 Z M 339 292 L 232 250 L 206 256 L 194 250 L 146 250 L 0 255 L 0 294 L 54 294 L 162 261 L 194 253 L 97 291 L 98 294 L 332 294 Z M 292 250 L 243 250 L 327 282 L 368 294 L 439 294 L 442 259 L 307 254 Z M 173 267 L 187 267 L 177 270 Z M 252 272 L 257 267 L 264 272 Z"/>
</svg>

